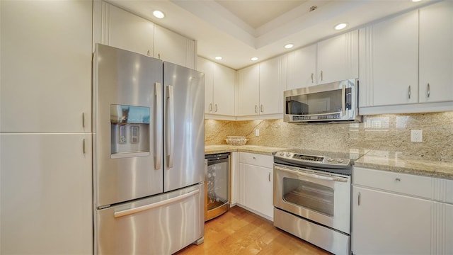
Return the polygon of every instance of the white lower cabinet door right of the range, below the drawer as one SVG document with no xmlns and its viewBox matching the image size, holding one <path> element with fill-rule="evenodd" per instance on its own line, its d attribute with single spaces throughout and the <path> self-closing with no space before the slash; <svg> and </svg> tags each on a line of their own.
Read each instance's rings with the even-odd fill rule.
<svg viewBox="0 0 453 255">
<path fill-rule="evenodd" d="M 430 200 L 352 188 L 353 254 L 430 254 Z"/>
</svg>

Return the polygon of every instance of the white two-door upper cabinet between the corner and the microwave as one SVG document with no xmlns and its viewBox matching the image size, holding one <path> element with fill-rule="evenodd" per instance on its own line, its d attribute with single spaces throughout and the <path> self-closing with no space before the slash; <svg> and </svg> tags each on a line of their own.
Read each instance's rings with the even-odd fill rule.
<svg viewBox="0 0 453 255">
<path fill-rule="evenodd" d="M 254 115 L 282 118 L 286 64 L 286 55 L 282 55 L 239 70 L 238 119 Z"/>
</svg>

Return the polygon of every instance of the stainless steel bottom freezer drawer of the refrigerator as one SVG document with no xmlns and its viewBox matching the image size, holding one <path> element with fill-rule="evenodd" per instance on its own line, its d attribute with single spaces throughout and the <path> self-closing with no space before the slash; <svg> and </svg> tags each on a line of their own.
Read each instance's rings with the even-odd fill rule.
<svg viewBox="0 0 453 255">
<path fill-rule="evenodd" d="M 95 254 L 173 254 L 202 238 L 204 187 L 97 210 Z"/>
</svg>

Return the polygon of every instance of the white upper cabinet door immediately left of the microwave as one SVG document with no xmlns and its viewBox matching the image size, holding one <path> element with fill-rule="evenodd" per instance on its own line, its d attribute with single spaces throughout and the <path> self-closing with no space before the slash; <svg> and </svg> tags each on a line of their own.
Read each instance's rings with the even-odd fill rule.
<svg viewBox="0 0 453 255">
<path fill-rule="evenodd" d="M 260 62 L 260 105 L 263 114 L 283 113 L 283 87 L 286 85 L 286 55 Z"/>
</svg>

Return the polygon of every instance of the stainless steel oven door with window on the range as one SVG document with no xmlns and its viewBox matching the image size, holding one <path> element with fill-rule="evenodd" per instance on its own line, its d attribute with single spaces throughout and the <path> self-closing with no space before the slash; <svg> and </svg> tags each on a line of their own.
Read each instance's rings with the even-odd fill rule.
<svg viewBox="0 0 453 255">
<path fill-rule="evenodd" d="M 273 204 L 350 234 L 350 176 L 274 164 Z"/>
</svg>

